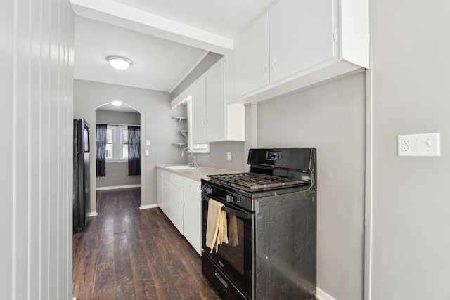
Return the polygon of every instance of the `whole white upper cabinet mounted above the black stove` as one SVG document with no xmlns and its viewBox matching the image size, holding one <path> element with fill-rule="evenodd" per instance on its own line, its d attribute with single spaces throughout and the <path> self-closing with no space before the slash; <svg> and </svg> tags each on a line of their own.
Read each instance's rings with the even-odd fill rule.
<svg viewBox="0 0 450 300">
<path fill-rule="evenodd" d="M 368 68 L 368 0 L 280 0 L 235 39 L 232 103 Z"/>
</svg>

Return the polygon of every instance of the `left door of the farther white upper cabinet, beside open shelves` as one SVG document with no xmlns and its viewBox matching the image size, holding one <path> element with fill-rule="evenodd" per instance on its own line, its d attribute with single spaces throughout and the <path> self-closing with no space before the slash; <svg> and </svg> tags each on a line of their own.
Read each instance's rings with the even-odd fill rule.
<svg viewBox="0 0 450 300">
<path fill-rule="evenodd" d="M 192 95 L 192 141 L 206 139 L 206 80 L 199 79 L 191 86 Z"/>
</svg>

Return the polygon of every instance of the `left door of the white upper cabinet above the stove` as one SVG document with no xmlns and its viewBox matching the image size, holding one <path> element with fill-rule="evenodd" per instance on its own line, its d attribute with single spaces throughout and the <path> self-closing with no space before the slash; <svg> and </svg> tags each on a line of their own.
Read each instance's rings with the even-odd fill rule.
<svg viewBox="0 0 450 300">
<path fill-rule="evenodd" d="M 240 97 L 269 84 L 269 14 L 264 13 L 234 41 L 234 93 Z"/>
</svg>

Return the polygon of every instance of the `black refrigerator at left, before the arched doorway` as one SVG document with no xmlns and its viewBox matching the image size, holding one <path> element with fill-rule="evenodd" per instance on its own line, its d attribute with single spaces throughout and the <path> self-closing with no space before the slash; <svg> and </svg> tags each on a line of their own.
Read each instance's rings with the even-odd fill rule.
<svg viewBox="0 0 450 300">
<path fill-rule="evenodd" d="M 73 121 L 73 233 L 87 224 L 91 198 L 89 183 L 89 124 L 85 119 Z"/>
</svg>

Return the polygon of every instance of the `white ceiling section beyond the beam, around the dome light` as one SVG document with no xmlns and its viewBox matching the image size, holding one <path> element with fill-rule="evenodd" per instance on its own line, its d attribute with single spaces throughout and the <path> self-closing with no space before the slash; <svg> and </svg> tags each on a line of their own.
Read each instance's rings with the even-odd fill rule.
<svg viewBox="0 0 450 300">
<path fill-rule="evenodd" d="M 172 91 L 207 51 L 87 18 L 75 18 L 74 77 L 107 84 Z M 133 61 L 117 71 L 107 56 Z"/>
</svg>

